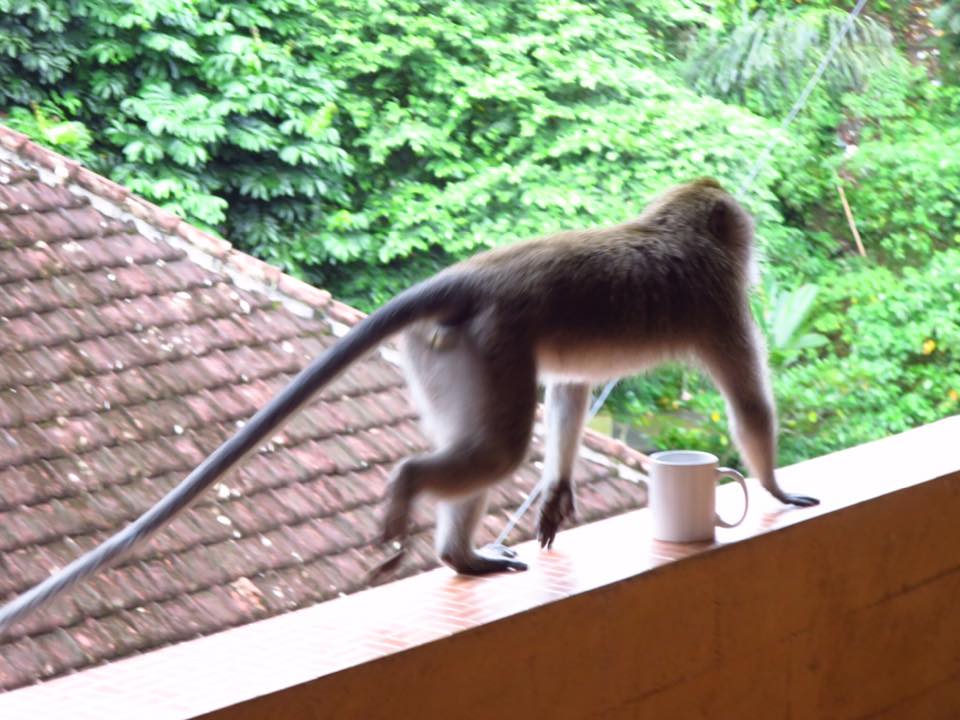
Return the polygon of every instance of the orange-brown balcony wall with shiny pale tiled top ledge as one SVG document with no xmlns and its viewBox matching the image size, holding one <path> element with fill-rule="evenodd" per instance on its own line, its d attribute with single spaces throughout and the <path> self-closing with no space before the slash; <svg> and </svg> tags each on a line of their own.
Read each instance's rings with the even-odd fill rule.
<svg viewBox="0 0 960 720">
<path fill-rule="evenodd" d="M 4 718 L 952 718 L 960 417 L 785 468 L 717 542 L 647 511 L 0 695 Z M 729 492 L 727 492 L 729 490 Z M 722 488 L 721 511 L 736 505 Z"/>
</svg>

